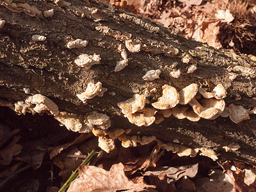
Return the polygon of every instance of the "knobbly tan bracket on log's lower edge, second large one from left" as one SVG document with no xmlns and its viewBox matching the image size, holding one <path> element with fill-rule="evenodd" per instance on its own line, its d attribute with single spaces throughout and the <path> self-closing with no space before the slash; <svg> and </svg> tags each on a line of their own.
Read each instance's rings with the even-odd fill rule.
<svg viewBox="0 0 256 192">
<path fill-rule="evenodd" d="M 86 116 L 83 115 L 62 111 L 58 115 L 54 116 L 54 118 L 62 125 L 65 125 L 68 130 L 74 132 L 90 132 L 93 128 L 93 125 L 90 124 Z"/>
</svg>

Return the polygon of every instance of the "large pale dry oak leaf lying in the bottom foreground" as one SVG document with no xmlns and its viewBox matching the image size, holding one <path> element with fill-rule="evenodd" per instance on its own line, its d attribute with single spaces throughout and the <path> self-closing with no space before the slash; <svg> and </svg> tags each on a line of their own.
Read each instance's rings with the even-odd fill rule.
<svg viewBox="0 0 256 192">
<path fill-rule="evenodd" d="M 145 191 L 145 188 L 154 187 L 129 180 L 125 176 L 122 163 L 113 164 L 109 172 L 97 166 L 83 165 L 79 167 L 79 178 L 70 184 L 68 192 Z"/>
</svg>

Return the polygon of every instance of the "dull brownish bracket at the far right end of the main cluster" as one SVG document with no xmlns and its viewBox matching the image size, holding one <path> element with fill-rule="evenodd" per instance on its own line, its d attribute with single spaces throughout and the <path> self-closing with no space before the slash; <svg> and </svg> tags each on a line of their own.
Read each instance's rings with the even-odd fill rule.
<svg viewBox="0 0 256 192">
<path fill-rule="evenodd" d="M 244 109 L 243 106 L 235 106 L 234 104 L 230 104 L 228 106 L 229 118 L 235 124 L 239 124 L 243 122 L 243 120 L 250 119 L 249 110 Z"/>
</svg>

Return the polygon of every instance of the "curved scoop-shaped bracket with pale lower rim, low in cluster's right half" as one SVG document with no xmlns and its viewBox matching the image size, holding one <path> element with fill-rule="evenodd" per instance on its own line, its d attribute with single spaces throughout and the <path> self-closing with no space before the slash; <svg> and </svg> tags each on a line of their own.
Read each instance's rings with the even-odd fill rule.
<svg viewBox="0 0 256 192">
<path fill-rule="evenodd" d="M 212 118 L 214 115 L 216 115 L 219 112 L 219 109 L 217 108 L 204 108 L 201 106 L 201 104 L 193 98 L 190 102 L 189 105 L 193 108 L 195 113 L 202 118 Z"/>
</svg>

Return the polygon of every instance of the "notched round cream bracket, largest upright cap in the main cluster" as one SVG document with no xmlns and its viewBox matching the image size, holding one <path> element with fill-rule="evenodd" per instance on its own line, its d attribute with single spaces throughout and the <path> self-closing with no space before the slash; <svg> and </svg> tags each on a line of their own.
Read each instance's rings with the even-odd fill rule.
<svg viewBox="0 0 256 192">
<path fill-rule="evenodd" d="M 163 95 L 157 102 L 152 103 L 152 106 L 156 109 L 170 109 L 174 108 L 179 103 L 179 93 L 177 90 L 168 84 L 162 86 Z"/>
</svg>

